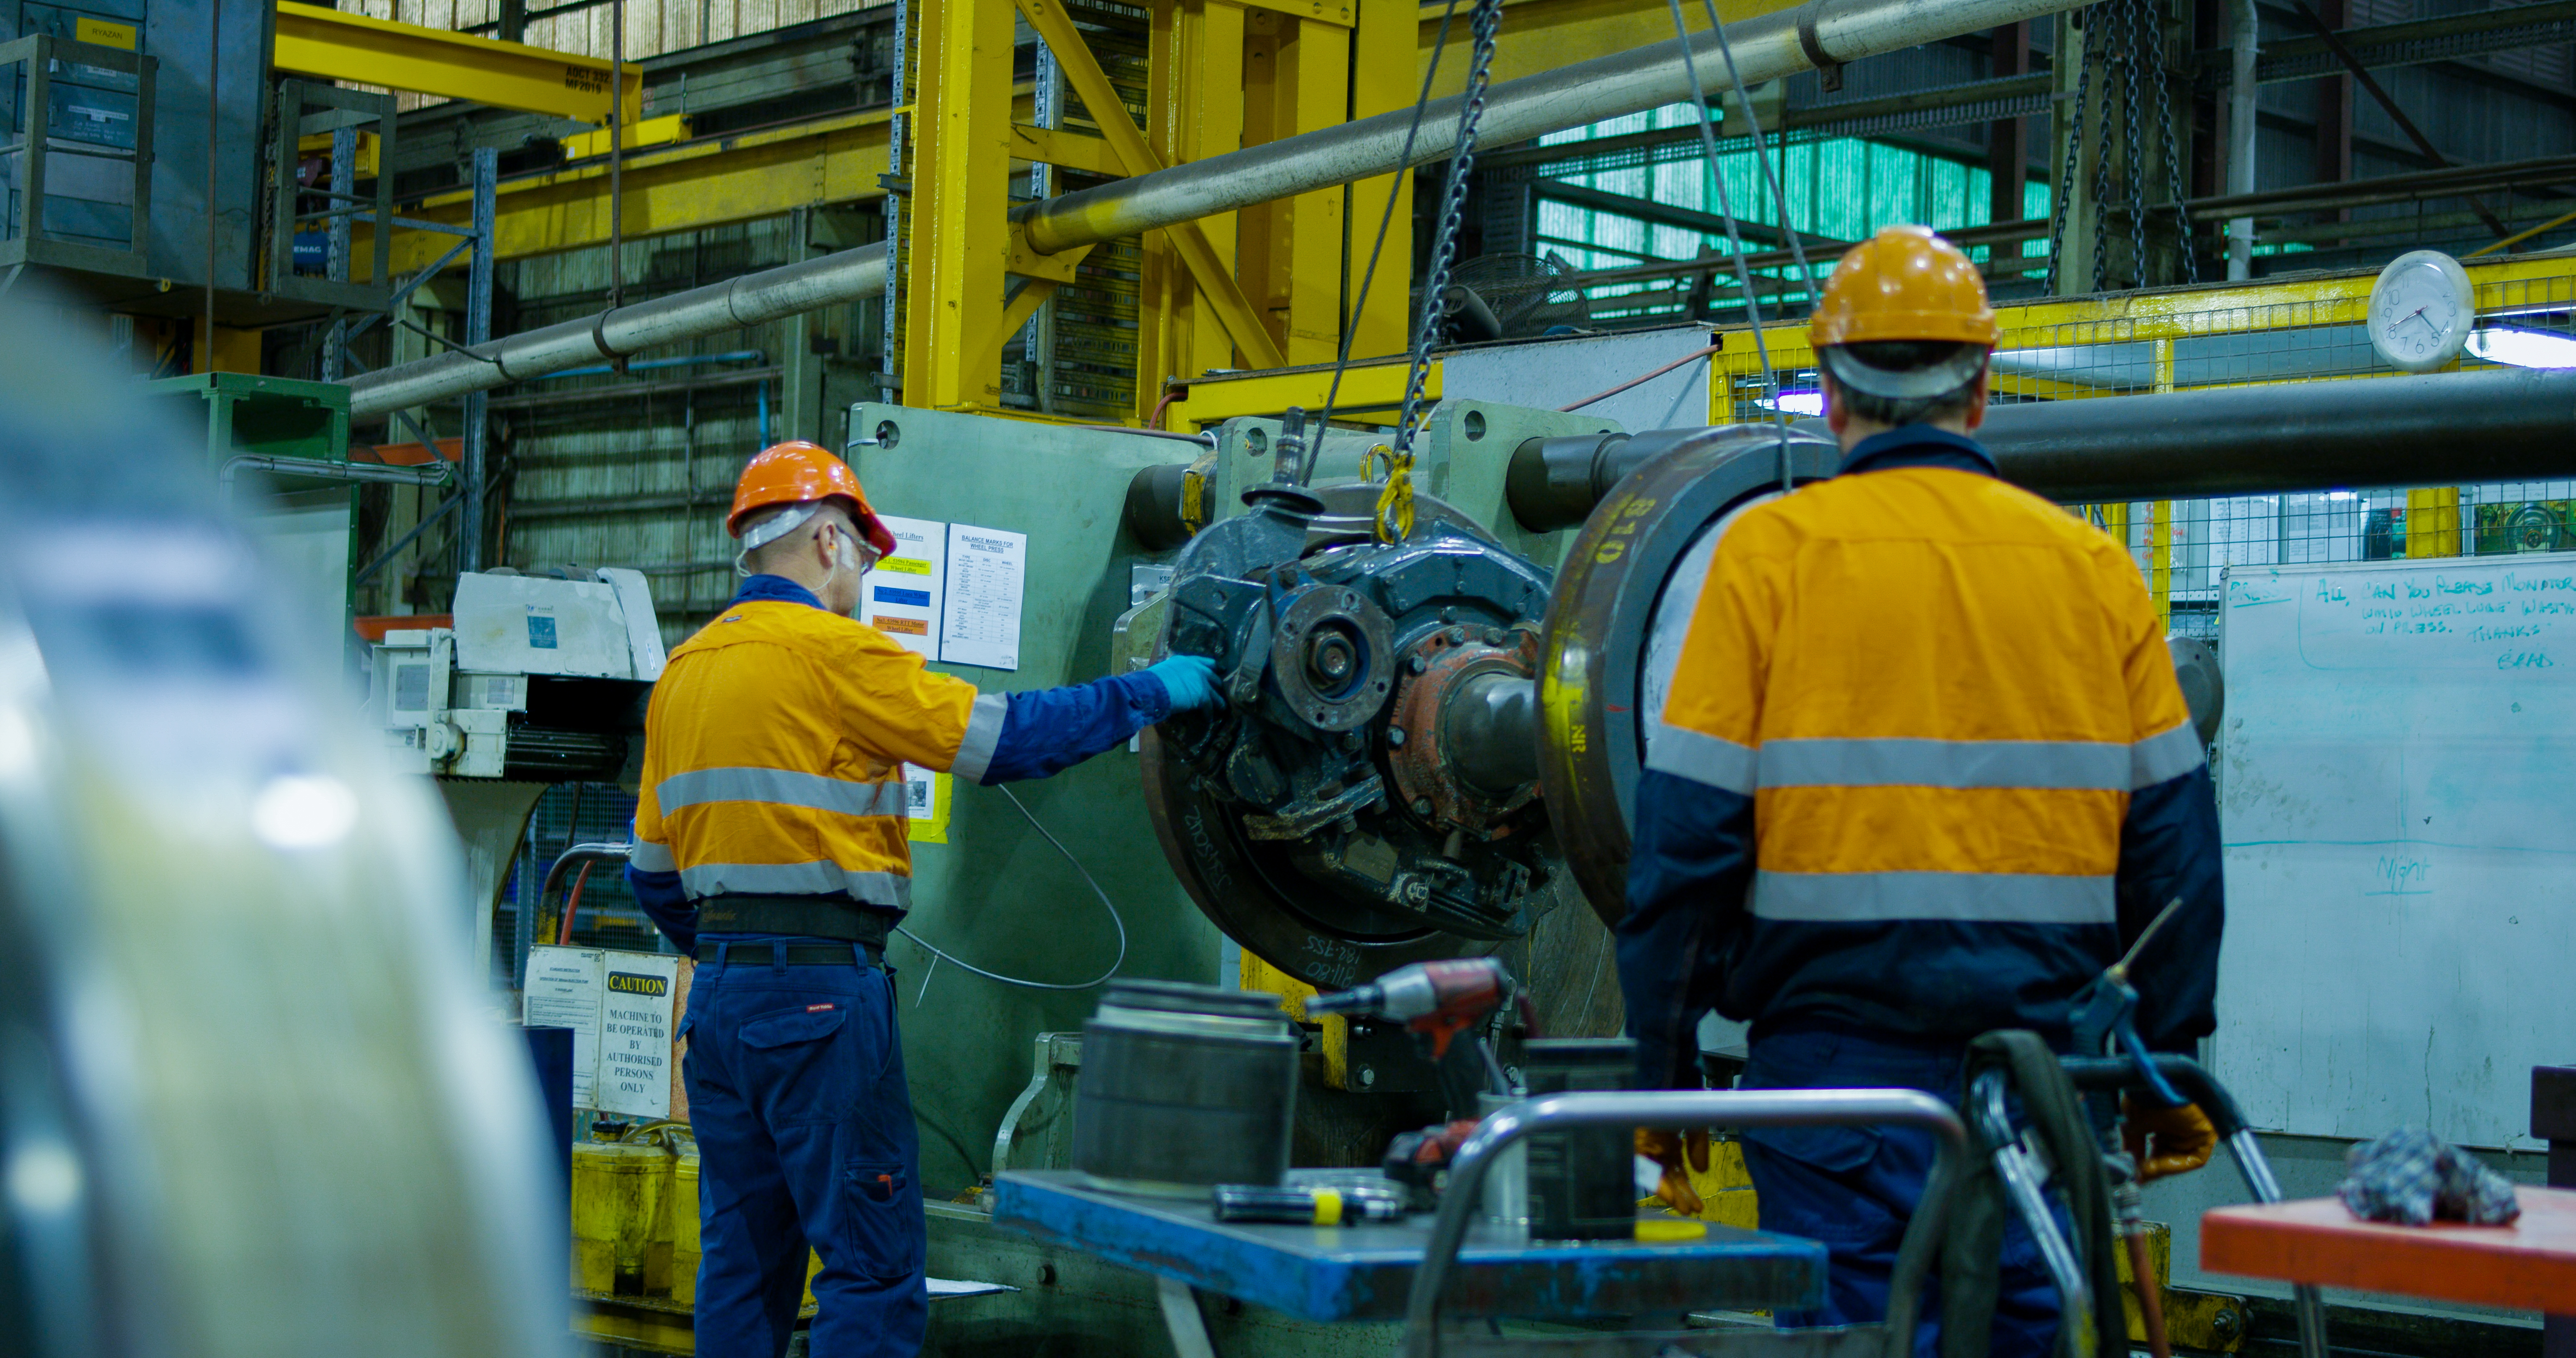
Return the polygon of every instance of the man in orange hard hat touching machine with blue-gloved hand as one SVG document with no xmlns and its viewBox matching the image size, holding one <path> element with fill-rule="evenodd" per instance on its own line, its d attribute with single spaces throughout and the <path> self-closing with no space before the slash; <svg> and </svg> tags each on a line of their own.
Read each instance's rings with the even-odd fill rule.
<svg viewBox="0 0 2576 1358">
<path fill-rule="evenodd" d="M 1020 693 L 930 673 L 853 618 L 896 539 L 814 443 L 755 456 L 726 528 L 747 580 L 654 683 L 626 868 L 698 959 L 680 1026 L 701 1154 L 698 1353 L 781 1358 L 811 1245 L 809 1353 L 909 1355 L 927 1227 L 884 969 L 912 904 L 904 765 L 1043 778 L 1224 698 L 1200 657 Z M 876 590 L 925 582 L 927 564 L 902 564 Z"/>
</svg>

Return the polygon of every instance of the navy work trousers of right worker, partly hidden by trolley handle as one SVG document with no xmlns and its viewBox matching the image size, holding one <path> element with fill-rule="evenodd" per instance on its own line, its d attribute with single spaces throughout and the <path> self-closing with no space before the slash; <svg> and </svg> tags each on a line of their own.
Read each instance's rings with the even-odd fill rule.
<svg viewBox="0 0 2576 1358">
<path fill-rule="evenodd" d="M 1958 1103 L 1963 1046 L 1893 1044 L 1803 1028 L 1752 1044 L 1744 1090 L 1924 1090 Z M 1777 1312 L 1783 1327 L 1868 1325 L 1888 1314 L 1888 1281 L 1906 1219 L 1932 1178 L 1932 1134 L 1896 1126 L 1777 1126 L 1744 1131 L 1762 1229 L 1821 1239 L 1829 1255 L 1821 1312 Z M 2063 1224 L 2063 1209 L 2058 1211 Z M 1996 1358 L 2048 1358 L 2058 1337 L 2058 1288 L 2030 1227 L 2007 1211 Z M 1924 1281 L 1917 1358 L 1940 1353 L 1940 1270 Z"/>
</svg>

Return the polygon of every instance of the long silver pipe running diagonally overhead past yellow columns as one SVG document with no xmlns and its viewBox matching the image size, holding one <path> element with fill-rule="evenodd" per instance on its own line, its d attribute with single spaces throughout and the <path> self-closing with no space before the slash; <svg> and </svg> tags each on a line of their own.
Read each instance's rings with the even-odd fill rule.
<svg viewBox="0 0 2576 1358">
<path fill-rule="evenodd" d="M 1857 62 L 2063 8 L 2066 0 L 1808 0 L 1793 10 L 1728 23 L 1726 39 L 1734 44 L 1744 80 L 1762 82 L 1821 62 Z M 1716 33 L 1692 36 L 1692 49 L 1698 62 L 1718 62 Z M 1687 98 L 1690 80 L 1682 70 L 1682 49 L 1664 41 L 1494 85 L 1486 93 L 1479 139 L 1499 147 Z M 1435 100 L 1422 111 L 1414 152 L 1406 157 L 1404 134 L 1412 124 L 1412 108 L 1399 108 L 1082 193 L 1043 198 L 1015 209 L 1012 216 L 1028 229 L 1033 250 L 1054 255 L 1409 165 L 1430 165 L 1445 160 L 1458 144 L 1458 100 Z M 819 260 L 747 273 L 729 283 L 528 330 L 471 350 L 446 350 L 363 374 L 348 384 L 350 415 L 384 415 L 884 291 L 886 247 L 863 245 Z"/>
</svg>

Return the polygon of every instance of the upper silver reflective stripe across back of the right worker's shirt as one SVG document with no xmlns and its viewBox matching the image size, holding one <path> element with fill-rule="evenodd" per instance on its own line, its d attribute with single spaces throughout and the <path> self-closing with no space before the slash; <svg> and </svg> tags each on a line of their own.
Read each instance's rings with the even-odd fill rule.
<svg viewBox="0 0 2576 1358">
<path fill-rule="evenodd" d="M 2128 791 L 2130 747 L 2099 740 L 1765 740 L 1765 789 Z"/>
</svg>

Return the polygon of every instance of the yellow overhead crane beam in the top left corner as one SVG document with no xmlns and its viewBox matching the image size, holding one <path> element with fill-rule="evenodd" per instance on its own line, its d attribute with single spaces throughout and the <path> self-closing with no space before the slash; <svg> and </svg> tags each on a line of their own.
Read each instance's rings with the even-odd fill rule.
<svg viewBox="0 0 2576 1358">
<path fill-rule="evenodd" d="M 515 41 L 278 0 L 273 64 L 294 75 L 461 98 L 526 113 L 608 124 L 608 62 Z M 626 64 L 623 121 L 644 100 L 644 70 Z"/>
</svg>

